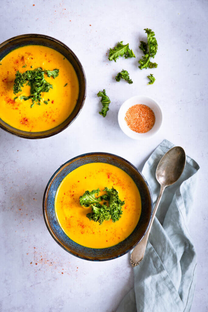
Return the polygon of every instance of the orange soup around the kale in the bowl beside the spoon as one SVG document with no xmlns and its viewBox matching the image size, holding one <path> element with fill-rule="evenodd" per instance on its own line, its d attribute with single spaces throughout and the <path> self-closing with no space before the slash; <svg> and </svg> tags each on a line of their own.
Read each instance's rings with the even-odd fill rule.
<svg viewBox="0 0 208 312">
<path fill-rule="evenodd" d="M 125 201 L 121 218 L 99 222 L 90 221 L 90 207 L 81 207 L 79 198 L 86 190 L 114 187 Z M 105 192 L 100 192 L 103 195 Z M 89 248 L 106 248 L 127 238 L 141 215 L 141 197 L 133 179 L 122 169 L 107 163 L 89 163 L 70 172 L 60 183 L 55 197 L 58 222 L 76 243 Z"/>
</svg>

